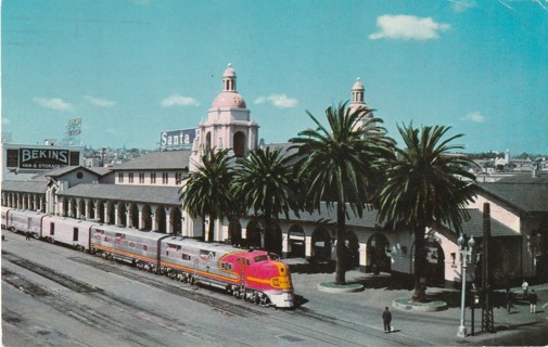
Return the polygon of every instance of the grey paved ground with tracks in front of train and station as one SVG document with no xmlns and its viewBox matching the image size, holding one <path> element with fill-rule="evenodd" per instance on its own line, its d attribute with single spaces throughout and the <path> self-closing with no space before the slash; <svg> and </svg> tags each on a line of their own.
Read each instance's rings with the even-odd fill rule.
<svg viewBox="0 0 548 347">
<path fill-rule="evenodd" d="M 495 308 L 495 334 L 456 337 L 458 291 L 429 288 L 449 309 L 393 310 L 395 332 L 384 334 L 381 313 L 411 292 L 387 275 L 347 273 L 366 290 L 317 290 L 333 273 L 294 273 L 295 310 L 275 310 L 208 288 L 191 287 L 122 264 L 4 232 L 2 342 L 4 346 L 438 346 L 546 345 L 548 285 L 533 285 L 538 312 L 515 303 Z M 515 292 L 521 288 L 513 288 Z M 476 312 L 480 326 L 480 312 Z M 467 311 L 470 323 L 470 311 Z M 470 325 L 468 325 L 470 332 Z"/>
</svg>

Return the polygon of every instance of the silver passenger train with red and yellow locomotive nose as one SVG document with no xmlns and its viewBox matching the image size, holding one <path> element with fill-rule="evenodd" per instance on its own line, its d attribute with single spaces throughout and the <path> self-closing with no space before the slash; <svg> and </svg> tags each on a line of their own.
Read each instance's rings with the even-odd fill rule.
<svg viewBox="0 0 548 347">
<path fill-rule="evenodd" d="M 191 284 L 219 287 L 265 306 L 293 308 L 289 266 L 266 250 L 242 249 L 153 231 L 1 207 L 2 228 L 128 262 Z"/>
</svg>

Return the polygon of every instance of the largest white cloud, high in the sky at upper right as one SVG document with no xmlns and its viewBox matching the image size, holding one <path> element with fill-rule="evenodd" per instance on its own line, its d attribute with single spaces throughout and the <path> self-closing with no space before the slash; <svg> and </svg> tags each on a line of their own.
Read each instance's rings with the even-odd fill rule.
<svg viewBox="0 0 548 347">
<path fill-rule="evenodd" d="M 369 35 L 371 40 L 382 38 L 403 40 L 431 40 L 438 37 L 438 33 L 450 28 L 449 24 L 436 23 L 431 17 L 413 15 L 381 15 L 377 18 L 379 31 Z"/>
</svg>

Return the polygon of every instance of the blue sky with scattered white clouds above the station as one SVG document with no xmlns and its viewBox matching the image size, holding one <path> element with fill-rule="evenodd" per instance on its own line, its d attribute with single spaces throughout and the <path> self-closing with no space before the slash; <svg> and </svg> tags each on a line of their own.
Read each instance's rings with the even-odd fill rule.
<svg viewBox="0 0 548 347">
<path fill-rule="evenodd" d="M 397 125 L 451 126 L 467 152 L 548 154 L 548 0 L 4 0 L 2 131 L 155 149 L 194 128 L 228 63 L 267 143 L 306 110 L 365 99 Z"/>
</svg>

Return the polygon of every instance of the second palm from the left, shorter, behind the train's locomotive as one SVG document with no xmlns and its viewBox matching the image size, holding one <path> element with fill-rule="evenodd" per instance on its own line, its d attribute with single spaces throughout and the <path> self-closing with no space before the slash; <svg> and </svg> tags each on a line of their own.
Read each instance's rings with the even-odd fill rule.
<svg viewBox="0 0 548 347">
<path fill-rule="evenodd" d="M 289 165 L 290 157 L 280 150 L 255 150 L 239 163 L 231 194 L 244 207 L 265 221 L 265 248 L 281 254 L 281 234 L 276 230 L 280 214 L 298 209 L 298 190 Z"/>
</svg>

